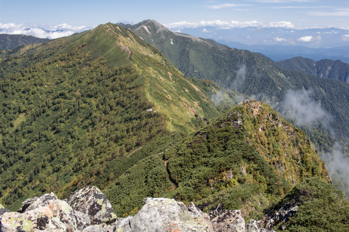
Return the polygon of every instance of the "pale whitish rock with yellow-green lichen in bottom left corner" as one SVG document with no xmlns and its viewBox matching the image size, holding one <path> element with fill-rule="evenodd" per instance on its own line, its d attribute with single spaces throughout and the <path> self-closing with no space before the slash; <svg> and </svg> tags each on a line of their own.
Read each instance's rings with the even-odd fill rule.
<svg viewBox="0 0 349 232">
<path fill-rule="evenodd" d="M 1 232 L 75 232 L 90 226 L 87 215 L 74 211 L 66 202 L 55 200 L 24 213 L 4 213 Z"/>
</svg>

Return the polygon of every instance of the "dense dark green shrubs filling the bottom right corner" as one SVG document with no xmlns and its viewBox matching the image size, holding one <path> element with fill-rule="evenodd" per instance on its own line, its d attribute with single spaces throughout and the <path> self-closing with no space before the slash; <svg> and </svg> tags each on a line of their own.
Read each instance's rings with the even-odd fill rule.
<svg viewBox="0 0 349 232">
<path fill-rule="evenodd" d="M 296 185 L 282 202 L 299 206 L 295 217 L 285 223 L 287 232 L 349 230 L 348 199 L 320 178 L 309 178 Z"/>
</svg>

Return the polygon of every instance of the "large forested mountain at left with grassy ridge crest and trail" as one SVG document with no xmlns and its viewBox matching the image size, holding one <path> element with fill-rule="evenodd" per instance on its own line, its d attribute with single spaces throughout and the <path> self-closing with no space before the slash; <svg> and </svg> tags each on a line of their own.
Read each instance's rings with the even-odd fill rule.
<svg viewBox="0 0 349 232">
<path fill-rule="evenodd" d="M 2 55 L 0 200 L 12 210 L 45 192 L 103 189 L 118 177 L 104 175 L 110 164 L 127 169 L 149 155 L 127 158 L 143 145 L 220 114 L 213 82 L 184 77 L 115 24 Z"/>
</svg>

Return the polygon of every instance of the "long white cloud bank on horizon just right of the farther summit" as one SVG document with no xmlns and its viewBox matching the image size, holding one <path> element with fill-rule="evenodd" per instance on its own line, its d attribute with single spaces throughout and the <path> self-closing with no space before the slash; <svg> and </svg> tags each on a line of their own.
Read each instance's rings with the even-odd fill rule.
<svg viewBox="0 0 349 232">
<path fill-rule="evenodd" d="M 214 20 L 214 21 L 201 21 L 201 22 L 173 22 L 165 24 L 165 26 L 169 28 L 197 28 L 197 27 L 204 27 L 204 26 L 213 26 L 213 27 L 219 27 L 224 29 L 229 28 L 242 28 L 242 27 L 265 27 L 265 24 L 261 22 L 257 22 L 256 20 L 253 21 L 247 21 L 247 22 L 240 22 L 240 21 L 221 21 L 221 20 Z"/>
</svg>

